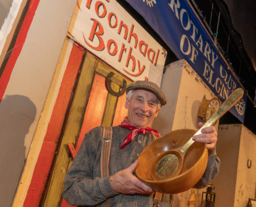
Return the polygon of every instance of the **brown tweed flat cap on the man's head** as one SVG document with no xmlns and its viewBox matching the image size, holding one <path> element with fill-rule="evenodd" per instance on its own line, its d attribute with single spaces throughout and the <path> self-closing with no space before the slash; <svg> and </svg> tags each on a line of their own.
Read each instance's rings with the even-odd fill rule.
<svg viewBox="0 0 256 207">
<path fill-rule="evenodd" d="M 164 95 L 164 92 L 160 89 L 159 86 L 151 81 L 134 81 L 130 83 L 130 85 L 126 88 L 126 92 L 139 88 L 146 89 L 154 93 L 162 106 L 166 104 L 167 99 Z"/>
</svg>

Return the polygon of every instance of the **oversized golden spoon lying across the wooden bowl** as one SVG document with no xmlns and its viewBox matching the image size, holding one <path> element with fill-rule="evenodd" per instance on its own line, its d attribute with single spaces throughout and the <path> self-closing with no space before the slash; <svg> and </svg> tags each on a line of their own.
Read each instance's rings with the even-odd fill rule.
<svg viewBox="0 0 256 207">
<path fill-rule="evenodd" d="M 228 98 L 223 102 L 219 109 L 210 117 L 208 121 L 193 135 L 201 134 L 201 129 L 211 126 L 216 120 L 225 114 L 232 106 L 243 97 L 244 91 L 242 88 L 237 88 Z M 184 162 L 186 150 L 194 143 L 192 137 L 185 145 L 163 152 L 154 161 L 151 168 L 151 176 L 154 180 L 169 179 L 179 175 Z"/>
</svg>

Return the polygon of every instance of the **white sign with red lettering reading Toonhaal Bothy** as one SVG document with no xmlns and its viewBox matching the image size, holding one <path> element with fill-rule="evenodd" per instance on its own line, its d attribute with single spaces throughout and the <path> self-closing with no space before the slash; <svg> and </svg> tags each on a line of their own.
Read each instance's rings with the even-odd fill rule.
<svg viewBox="0 0 256 207">
<path fill-rule="evenodd" d="M 160 86 L 167 52 L 116 1 L 78 1 L 68 32 L 131 80 Z"/>
</svg>

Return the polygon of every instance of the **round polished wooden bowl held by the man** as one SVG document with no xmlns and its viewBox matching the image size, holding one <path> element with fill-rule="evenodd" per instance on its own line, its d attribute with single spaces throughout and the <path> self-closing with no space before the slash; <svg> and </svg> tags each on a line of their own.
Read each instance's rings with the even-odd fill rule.
<svg viewBox="0 0 256 207">
<path fill-rule="evenodd" d="M 185 152 L 184 164 L 179 175 L 154 180 L 151 170 L 159 157 L 168 154 L 168 150 L 183 146 L 195 132 L 191 129 L 174 130 L 151 142 L 138 158 L 139 165 L 135 170 L 137 177 L 160 193 L 176 194 L 192 188 L 203 176 L 208 162 L 208 150 L 204 143 L 194 142 Z"/>
</svg>

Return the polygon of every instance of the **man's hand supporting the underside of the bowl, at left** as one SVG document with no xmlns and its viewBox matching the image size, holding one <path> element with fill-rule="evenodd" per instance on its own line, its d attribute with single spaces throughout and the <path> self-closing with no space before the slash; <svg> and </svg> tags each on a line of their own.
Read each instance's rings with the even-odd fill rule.
<svg viewBox="0 0 256 207">
<path fill-rule="evenodd" d="M 151 194 L 154 191 L 149 188 L 146 184 L 142 183 L 139 179 L 137 179 L 132 172 L 138 166 L 139 161 L 135 161 L 129 167 L 110 177 L 110 184 L 112 188 L 116 191 L 116 193 L 122 194 Z"/>
</svg>

